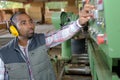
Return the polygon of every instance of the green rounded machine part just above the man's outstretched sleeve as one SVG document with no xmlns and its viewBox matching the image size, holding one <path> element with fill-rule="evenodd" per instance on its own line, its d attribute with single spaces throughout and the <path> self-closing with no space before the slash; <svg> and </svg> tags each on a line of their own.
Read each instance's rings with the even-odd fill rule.
<svg viewBox="0 0 120 80">
<path fill-rule="evenodd" d="M 72 21 L 78 19 L 78 15 L 72 12 L 53 12 L 52 13 L 52 24 L 55 26 L 56 30 L 60 29 L 62 26 L 69 24 Z"/>
</svg>

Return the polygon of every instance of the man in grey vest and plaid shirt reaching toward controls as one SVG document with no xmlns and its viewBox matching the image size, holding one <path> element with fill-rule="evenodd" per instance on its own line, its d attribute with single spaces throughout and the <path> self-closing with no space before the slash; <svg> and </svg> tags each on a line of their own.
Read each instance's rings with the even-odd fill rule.
<svg viewBox="0 0 120 80">
<path fill-rule="evenodd" d="M 86 5 L 77 21 L 51 35 L 34 33 L 32 19 L 18 12 L 11 21 L 17 28 L 15 39 L 0 49 L 0 80 L 56 80 L 47 49 L 70 39 L 81 30 L 92 14 Z"/>
</svg>

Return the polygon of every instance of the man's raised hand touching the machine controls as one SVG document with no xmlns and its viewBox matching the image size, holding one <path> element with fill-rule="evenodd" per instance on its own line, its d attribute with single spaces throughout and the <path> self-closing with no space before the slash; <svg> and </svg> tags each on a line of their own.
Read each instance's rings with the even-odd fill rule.
<svg viewBox="0 0 120 80">
<path fill-rule="evenodd" d="M 89 21 L 89 19 L 93 17 L 93 14 L 90 13 L 90 11 L 92 11 L 93 9 L 95 9 L 93 5 L 85 4 L 84 8 L 79 12 L 80 25 L 85 25 Z"/>
</svg>

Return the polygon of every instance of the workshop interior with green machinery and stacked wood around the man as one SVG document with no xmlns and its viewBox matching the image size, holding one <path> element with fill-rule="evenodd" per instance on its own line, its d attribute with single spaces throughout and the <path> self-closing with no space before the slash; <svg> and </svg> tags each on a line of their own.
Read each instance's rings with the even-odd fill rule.
<svg viewBox="0 0 120 80">
<path fill-rule="evenodd" d="M 53 33 L 76 21 L 88 0 L 0 0 L 0 47 L 14 38 L 10 17 L 26 12 L 36 33 Z M 119 0 L 89 0 L 94 19 L 71 39 L 48 50 L 57 80 L 120 80 Z M 49 80 L 49 79 L 48 79 Z"/>
</svg>

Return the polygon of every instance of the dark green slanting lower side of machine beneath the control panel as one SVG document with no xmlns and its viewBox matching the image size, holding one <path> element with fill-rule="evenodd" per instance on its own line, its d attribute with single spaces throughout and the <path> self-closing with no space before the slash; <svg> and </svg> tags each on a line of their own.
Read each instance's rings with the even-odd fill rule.
<svg viewBox="0 0 120 80">
<path fill-rule="evenodd" d="M 105 63 L 106 60 L 103 57 L 106 57 L 103 52 L 99 50 L 99 47 L 94 41 L 88 42 L 89 57 L 93 57 L 92 62 L 90 61 L 91 73 L 93 80 L 111 80 L 112 74 L 109 66 Z M 104 55 L 104 56 L 103 56 Z"/>
</svg>

